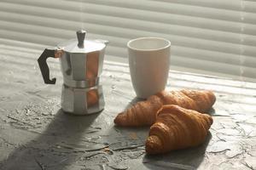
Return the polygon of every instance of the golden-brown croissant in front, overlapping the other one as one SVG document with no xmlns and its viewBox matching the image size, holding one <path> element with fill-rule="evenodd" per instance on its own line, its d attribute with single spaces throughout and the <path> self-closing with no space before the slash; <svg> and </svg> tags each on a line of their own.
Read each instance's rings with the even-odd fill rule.
<svg viewBox="0 0 256 170">
<path fill-rule="evenodd" d="M 160 154 L 202 144 L 211 125 L 212 116 L 178 105 L 164 105 L 150 127 L 146 152 Z"/>
</svg>

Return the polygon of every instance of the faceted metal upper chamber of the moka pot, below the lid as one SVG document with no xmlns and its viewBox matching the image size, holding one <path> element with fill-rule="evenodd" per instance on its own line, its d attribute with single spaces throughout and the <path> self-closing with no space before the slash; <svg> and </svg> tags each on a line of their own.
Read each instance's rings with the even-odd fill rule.
<svg viewBox="0 0 256 170">
<path fill-rule="evenodd" d="M 86 54 L 63 52 L 61 72 L 63 82 L 72 88 L 91 88 L 99 84 L 105 48 Z"/>
</svg>

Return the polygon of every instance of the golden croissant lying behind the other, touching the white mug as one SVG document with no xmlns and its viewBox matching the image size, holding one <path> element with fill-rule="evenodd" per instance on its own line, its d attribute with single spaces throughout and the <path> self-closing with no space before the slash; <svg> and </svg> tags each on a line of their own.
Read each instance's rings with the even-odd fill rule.
<svg viewBox="0 0 256 170">
<path fill-rule="evenodd" d="M 215 95 L 208 90 L 162 91 L 119 113 L 113 122 L 125 127 L 152 125 L 155 122 L 155 114 L 162 105 L 179 105 L 186 109 L 205 112 L 212 107 L 215 100 Z"/>
</svg>

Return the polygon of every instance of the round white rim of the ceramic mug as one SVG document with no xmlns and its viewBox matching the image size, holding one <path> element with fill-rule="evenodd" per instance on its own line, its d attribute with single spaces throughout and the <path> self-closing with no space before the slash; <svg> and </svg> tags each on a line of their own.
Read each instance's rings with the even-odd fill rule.
<svg viewBox="0 0 256 170">
<path fill-rule="evenodd" d="M 167 45 L 162 47 L 162 48 L 148 48 L 148 49 L 131 47 L 131 45 L 130 45 L 131 42 L 141 41 L 141 40 L 144 40 L 144 39 L 157 39 L 157 40 L 160 40 L 160 41 L 167 42 Z M 129 42 L 127 42 L 127 47 L 128 48 L 131 48 L 131 49 L 137 50 L 137 51 L 157 51 L 157 50 L 169 48 L 170 46 L 171 46 L 171 42 L 169 40 L 167 40 L 166 38 L 163 38 L 163 37 L 137 37 L 137 38 L 131 39 Z"/>
</svg>

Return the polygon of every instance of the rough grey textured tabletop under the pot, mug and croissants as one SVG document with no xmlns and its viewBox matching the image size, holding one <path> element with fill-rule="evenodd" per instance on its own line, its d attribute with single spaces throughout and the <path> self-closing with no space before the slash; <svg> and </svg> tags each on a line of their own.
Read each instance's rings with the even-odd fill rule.
<svg viewBox="0 0 256 170">
<path fill-rule="evenodd" d="M 60 110 L 61 72 L 45 85 L 37 58 L 42 49 L 0 44 L 0 169 L 256 169 L 256 84 L 170 71 L 167 89 L 212 89 L 217 102 L 205 144 L 146 156 L 149 127 L 115 127 L 113 118 L 136 102 L 128 66 L 106 61 L 105 110 L 71 116 Z"/>
</svg>

